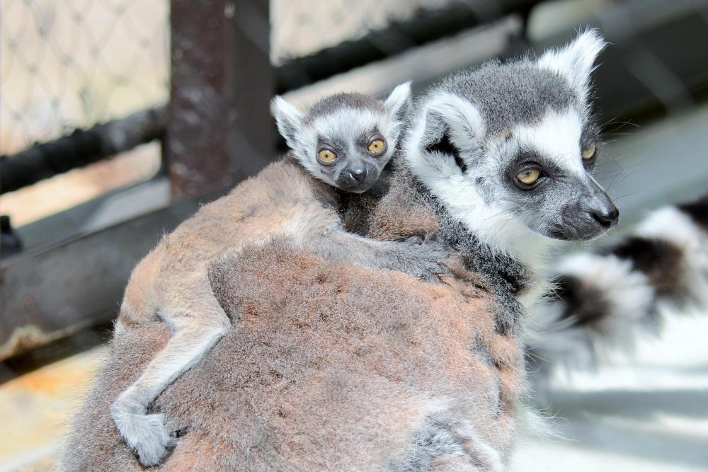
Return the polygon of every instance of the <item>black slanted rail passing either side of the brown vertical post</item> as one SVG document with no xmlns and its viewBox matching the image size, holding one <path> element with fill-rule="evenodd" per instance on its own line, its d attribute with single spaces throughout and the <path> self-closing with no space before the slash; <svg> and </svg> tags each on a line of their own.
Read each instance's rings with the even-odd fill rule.
<svg viewBox="0 0 708 472">
<path fill-rule="evenodd" d="M 409 20 L 274 67 L 275 92 L 295 90 L 508 13 L 525 13 L 537 3 L 539 0 L 471 1 L 438 10 L 421 9 Z M 160 139 L 165 127 L 166 105 L 161 105 L 0 156 L 0 194 Z"/>
</svg>

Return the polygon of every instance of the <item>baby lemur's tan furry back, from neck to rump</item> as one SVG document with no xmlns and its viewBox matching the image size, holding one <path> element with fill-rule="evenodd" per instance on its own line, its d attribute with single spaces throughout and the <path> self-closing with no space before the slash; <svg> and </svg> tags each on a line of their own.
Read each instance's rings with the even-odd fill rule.
<svg viewBox="0 0 708 472">
<path fill-rule="evenodd" d="M 120 323 L 148 321 L 160 308 L 181 309 L 191 298 L 207 296 L 195 293 L 195 287 L 206 277 L 210 261 L 226 250 L 287 233 L 289 224 L 314 212 L 324 214 L 318 199 L 327 197 L 333 198 L 333 190 L 292 157 L 270 164 L 229 195 L 201 207 L 140 261 L 125 289 Z"/>
</svg>

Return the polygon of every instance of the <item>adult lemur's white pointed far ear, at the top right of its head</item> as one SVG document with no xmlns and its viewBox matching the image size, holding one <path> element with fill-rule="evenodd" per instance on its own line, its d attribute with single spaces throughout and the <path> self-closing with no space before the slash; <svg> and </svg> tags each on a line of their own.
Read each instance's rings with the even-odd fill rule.
<svg viewBox="0 0 708 472">
<path fill-rule="evenodd" d="M 578 100 L 585 105 L 590 90 L 590 74 L 593 64 L 607 42 L 598 30 L 589 29 L 580 33 L 569 45 L 558 50 L 549 50 L 538 59 L 542 69 L 564 76 L 576 91 Z"/>
</svg>

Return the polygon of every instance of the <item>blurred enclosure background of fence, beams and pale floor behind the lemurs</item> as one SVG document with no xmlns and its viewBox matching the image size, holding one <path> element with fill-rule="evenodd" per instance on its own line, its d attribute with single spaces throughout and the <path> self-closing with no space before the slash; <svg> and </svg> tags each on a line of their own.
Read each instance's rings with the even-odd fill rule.
<svg viewBox="0 0 708 472">
<path fill-rule="evenodd" d="M 708 0 L 3 0 L 0 18 L 0 470 L 51 469 L 133 265 L 285 149 L 273 93 L 419 92 L 600 28 L 619 232 L 708 190 Z M 513 470 L 708 470 L 702 314 L 559 372 L 564 438 L 521 444 Z"/>
</svg>

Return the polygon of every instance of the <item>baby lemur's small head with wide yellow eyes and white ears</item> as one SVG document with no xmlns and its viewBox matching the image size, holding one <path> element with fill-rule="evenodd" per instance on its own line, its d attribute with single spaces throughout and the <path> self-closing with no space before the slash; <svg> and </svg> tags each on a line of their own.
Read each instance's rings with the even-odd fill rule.
<svg viewBox="0 0 708 472">
<path fill-rule="evenodd" d="M 396 150 L 411 105 L 411 84 L 386 100 L 340 93 L 301 113 L 281 97 L 273 101 L 278 130 L 312 175 L 347 192 L 369 190 Z"/>
</svg>

